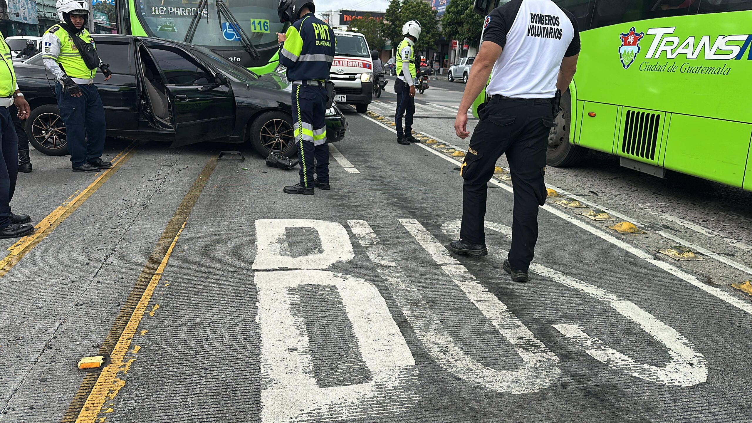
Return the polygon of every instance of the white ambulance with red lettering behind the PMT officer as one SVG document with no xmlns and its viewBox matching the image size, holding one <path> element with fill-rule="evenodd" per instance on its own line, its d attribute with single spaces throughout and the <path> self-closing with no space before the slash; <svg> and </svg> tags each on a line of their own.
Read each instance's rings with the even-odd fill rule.
<svg viewBox="0 0 752 423">
<path fill-rule="evenodd" d="M 365 36 L 359 32 L 335 29 L 337 50 L 332 62 L 332 82 L 335 85 L 334 101 L 354 105 L 365 113 L 373 94 L 374 64 Z"/>
</svg>

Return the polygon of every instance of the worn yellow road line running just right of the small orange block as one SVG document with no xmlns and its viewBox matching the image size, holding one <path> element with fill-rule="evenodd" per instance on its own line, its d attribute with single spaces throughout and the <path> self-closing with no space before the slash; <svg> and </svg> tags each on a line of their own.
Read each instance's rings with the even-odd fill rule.
<svg viewBox="0 0 752 423">
<path fill-rule="evenodd" d="M 114 399 L 121 388 L 126 384 L 124 379 L 118 378 L 118 373 L 126 373 L 134 359 L 126 359 L 126 354 L 136 333 L 139 332 L 138 324 L 144 318 L 147 306 L 159 285 L 162 273 L 165 271 L 172 251 L 177 244 L 177 239 L 183 233 L 186 223 L 193 210 L 193 206 L 199 200 L 202 190 L 217 167 L 217 157 L 211 157 L 202 172 L 193 181 L 183 201 L 177 206 L 177 210 L 170 219 L 159 237 L 149 260 L 141 270 L 141 275 L 135 283 L 123 309 L 115 318 L 115 322 L 105 337 L 105 342 L 99 348 L 101 355 L 109 356 L 110 362 L 98 374 L 87 374 L 77 393 L 74 395 L 68 411 L 63 418 L 64 423 L 75 421 L 76 423 L 95 423 L 100 412 L 110 412 L 108 408 L 102 411 L 105 402 Z M 147 331 L 141 330 L 141 335 Z M 109 406 L 109 405 L 108 405 Z"/>
</svg>

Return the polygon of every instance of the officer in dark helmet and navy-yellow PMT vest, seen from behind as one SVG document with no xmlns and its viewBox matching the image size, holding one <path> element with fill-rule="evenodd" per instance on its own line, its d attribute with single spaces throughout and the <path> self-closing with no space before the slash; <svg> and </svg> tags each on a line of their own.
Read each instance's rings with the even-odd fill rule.
<svg viewBox="0 0 752 423">
<path fill-rule="evenodd" d="M 329 24 L 314 16 L 311 0 L 281 0 L 280 22 L 292 22 L 286 34 L 277 32 L 280 63 L 293 83 L 293 133 L 300 150 L 300 182 L 284 187 L 288 194 L 314 194 L 316 186 L 329 190 L 329 145 L 326 144 L 326 80 L 334 61 L 336 40 Z"/>
</svg>

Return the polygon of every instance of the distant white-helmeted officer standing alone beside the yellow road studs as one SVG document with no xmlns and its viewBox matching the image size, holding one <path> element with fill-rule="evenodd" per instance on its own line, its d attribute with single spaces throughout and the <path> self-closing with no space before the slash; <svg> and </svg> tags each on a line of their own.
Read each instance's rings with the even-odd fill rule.
<svg viewBox="0 0 752 423">
<path fill-rule="evenodd" d="M 410 145 L 419 142 L 413 136 L 413 115 L 415 114 L 415 43 L 420 38 L 420 23 L 408 20 L 402 26 L 405 39 L 397 46 L 397 81 L 394 92 L 397 94 L 397 112 L 394 117 L 397 128 L 397 142 Z M 405 117 L 405 129 L 402 129 L 402 117 Z"/>
</svg>

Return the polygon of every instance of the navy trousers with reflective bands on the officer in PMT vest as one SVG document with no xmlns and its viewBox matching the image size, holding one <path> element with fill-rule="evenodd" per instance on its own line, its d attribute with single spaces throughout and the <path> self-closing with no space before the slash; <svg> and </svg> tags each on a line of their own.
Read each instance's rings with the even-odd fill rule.
<svg viewBox="0 0 752 423">
<path fill-rule="evenodd" d="M 293 129 L 300 151 L 300 184 L 329 184 L 329 145 L 326 144 L 326 88 L 293 85 Z"/>
</svg>

